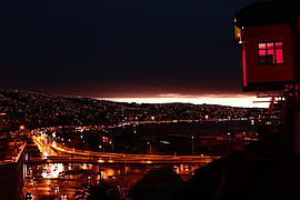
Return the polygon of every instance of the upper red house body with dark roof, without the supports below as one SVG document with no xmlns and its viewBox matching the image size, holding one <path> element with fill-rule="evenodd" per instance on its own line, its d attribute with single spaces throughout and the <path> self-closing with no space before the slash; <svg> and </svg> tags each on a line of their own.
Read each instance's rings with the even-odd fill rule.
<svg viewBox="0 0 300 200">
<path fill-rule="evenodd" d="M 246 91 L 278 90 L 300 79 L 299 0 L 256 1 L 236 12 Z"/>
</svg>

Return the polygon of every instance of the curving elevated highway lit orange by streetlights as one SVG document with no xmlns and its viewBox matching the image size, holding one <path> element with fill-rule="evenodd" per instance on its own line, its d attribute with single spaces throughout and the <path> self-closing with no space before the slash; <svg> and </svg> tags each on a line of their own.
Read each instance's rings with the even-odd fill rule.
<svg viewBox="0 0 300 200">
<path fill-rule="evenodd" d="M 47 136 L 33 138 L 43 158 L 31 159 L 40 163 L 134 163 L 134 164 L 179 164 L 179 163 L 208 163 L 219 159 L 218 156 L 161 156 L 161 154 L 128 154 L 84 151 L 68 148 Z"/>
</svg>

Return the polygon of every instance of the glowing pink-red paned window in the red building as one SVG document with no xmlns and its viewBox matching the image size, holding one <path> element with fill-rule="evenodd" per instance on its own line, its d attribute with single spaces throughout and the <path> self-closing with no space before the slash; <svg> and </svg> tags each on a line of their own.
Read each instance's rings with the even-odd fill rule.
<svg viewBox="0 0 300 200">
<path fill-rule="evenodd" d="M 283 63 L 283 42 L 260 42 L 259 64 L 281 64 Z"/>
</svg>

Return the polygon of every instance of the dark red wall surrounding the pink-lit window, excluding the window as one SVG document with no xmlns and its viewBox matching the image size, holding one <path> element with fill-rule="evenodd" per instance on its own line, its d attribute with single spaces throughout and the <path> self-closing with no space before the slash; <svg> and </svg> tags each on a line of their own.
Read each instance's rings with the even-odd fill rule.
<svg viewBox="0 0 300 200">
<path fill-rule="evenodd" d="M 294 81 L 294 58 L 292 56 L 292 28 L 288 23 L 247 27 L 243 33 L 247 83 Z M 258 64 L 258 43 L 283 41 L 284 64 Z"/>
</svg>

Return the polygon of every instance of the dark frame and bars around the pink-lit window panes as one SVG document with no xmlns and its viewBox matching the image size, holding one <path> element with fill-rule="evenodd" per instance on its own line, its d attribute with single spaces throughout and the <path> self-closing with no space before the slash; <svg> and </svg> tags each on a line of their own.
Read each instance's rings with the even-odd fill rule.
<svg viewBox="0 0 300 200">
<path fill-rule="evenodd" d="M 276 43 L 277 42 L 281 42 L 282 43 L 282 48 L 277 48 L 276 47 Z M 272 43 L 273 44 L 273 54 L 269 54 L 269 56 L 273 56 L 273 61 L 274 62 L 268 62 L 268 43 Z M 266 49 L 260 49 L 260 44 L 264 44 Z M 282 63 L 278 63 L 277 62 L 277 50 L 278 49 L 282 49 Z M 261 62 L 261 57 L 259 53 L 260 53 L 260 50 L 266 50 L 266 61 L 264 62 Z M 258 51 L 258 64 L 259 66 L 281 66 L 281 64 L 284 64 L 284 41 L 283 40 L 274 40 L 274 41 L 259 41 L 258 42 L 258 46 L 257 46 L 257 51 Z"/>
</svg>

